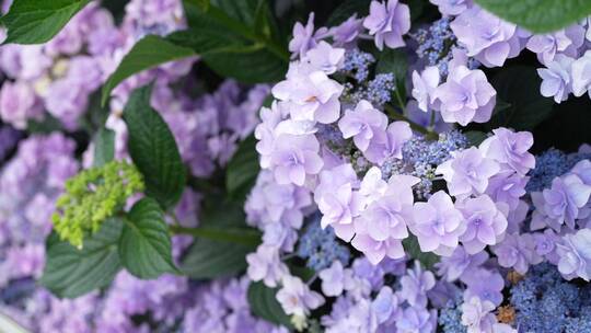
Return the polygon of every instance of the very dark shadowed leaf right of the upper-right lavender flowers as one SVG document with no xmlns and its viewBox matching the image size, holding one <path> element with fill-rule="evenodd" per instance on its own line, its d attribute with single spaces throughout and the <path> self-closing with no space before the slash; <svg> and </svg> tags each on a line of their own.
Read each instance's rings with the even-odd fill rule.
<svg viewBox="0 0 591 333">
<path fill-rule="evenodd" d="M 542 79 L 535 68 L 515 66 L 502 69 L 491 80 L 499 106 L 487 124 L 488 129 L 511 127 L 531 130 L 553 111 L 553 100 L 540 94 Z"/>
</svg>

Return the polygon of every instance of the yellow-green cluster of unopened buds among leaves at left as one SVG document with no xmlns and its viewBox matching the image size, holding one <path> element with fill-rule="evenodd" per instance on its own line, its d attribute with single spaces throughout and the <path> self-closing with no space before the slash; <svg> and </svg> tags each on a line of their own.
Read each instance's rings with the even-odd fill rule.
<svg viewBox="0 0 591 333">
<path fill-rule="evenodd" d="M 51 217 L 54 229 L 62 240 L 81 249 L 84 236 L 96 232 L 130 196 L 143 190 L 142 176 L 134 164 L 112 161 L 84 170 L 66 182 L 66 193 L 58 198 Z"/>
</svg>

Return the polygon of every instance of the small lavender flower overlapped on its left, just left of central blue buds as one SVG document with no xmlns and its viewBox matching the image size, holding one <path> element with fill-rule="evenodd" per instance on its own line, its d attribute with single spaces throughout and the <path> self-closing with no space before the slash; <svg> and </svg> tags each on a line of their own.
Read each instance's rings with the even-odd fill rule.
<svg viewBox="0 0 591 333">
<path fill-rule="evenodd" d="M 410 125 L 406 122 L 394 122 L 385 131 L 376 133 L 363 156 L 373 163 L 382 164 L 390 159 L 402 159 L 404 143 L 413 138 Z"/>
</svg>

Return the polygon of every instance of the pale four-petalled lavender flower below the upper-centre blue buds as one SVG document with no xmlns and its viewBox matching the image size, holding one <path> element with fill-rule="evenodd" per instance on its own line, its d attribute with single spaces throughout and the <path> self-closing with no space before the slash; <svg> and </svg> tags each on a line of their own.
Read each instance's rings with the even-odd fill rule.
<svg viewBox="0 0 591 333">
<path fill-rule="evenodd" d="M 355 111 L 347 110 L 338 122 L 338 128 L 345 139 L 352 138 L 355 146 L 366 151 L 371 139 L 387 127 L 387 116 L 373 108 L 370 102 L 360 101 Z"/>
</svg>

